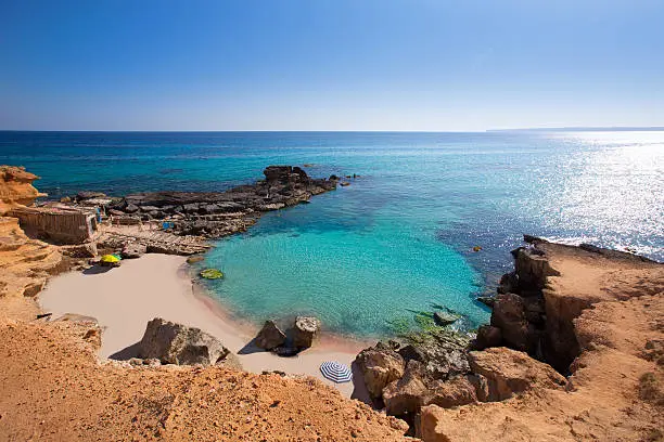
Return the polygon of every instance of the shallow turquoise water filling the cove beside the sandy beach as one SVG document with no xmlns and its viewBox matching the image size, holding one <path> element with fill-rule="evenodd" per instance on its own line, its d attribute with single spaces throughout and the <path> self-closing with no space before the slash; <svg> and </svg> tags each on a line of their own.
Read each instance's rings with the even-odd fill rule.
<svg viewBox="0 0 664 442">
<path fill-rule="evenodd" d="M 463 256 L 408 217 L 348 207 L 347 188 L 220 242 L 205 265 L 227 277 L 213 289 L 245 317 L 315 314 L 330 329 L 362 336 L 414 326 L 414 312 L 433 304 L 471 324 L 486 320 L 471 297 L 482 278 Z"/>
</svg>

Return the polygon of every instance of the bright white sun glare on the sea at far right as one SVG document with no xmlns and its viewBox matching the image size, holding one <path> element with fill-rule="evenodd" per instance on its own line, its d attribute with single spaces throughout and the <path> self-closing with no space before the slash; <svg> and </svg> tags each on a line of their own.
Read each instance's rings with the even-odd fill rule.
<svg viewBox="0 0 664 442">
<path fill-rule="evenodd" d="M 618 225 L 623 233 L 652 238 L 636 250 L 662 253 L 664 244 L 664 131 L 575 132 L 560 135 L 586 148 L 572 156 L 558 207 L 566 208 L 556 222 L 578 222 L 580 231 L 601 232 Z M 592 147 L 597 146 L 597 150 Z M 589 147 L 589 150 L 588 150 Z M 579 238 L 624 248 L 617 238 Z"/>
</svg>

